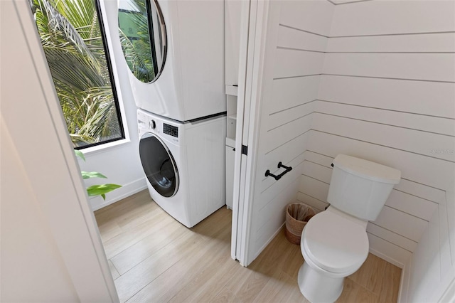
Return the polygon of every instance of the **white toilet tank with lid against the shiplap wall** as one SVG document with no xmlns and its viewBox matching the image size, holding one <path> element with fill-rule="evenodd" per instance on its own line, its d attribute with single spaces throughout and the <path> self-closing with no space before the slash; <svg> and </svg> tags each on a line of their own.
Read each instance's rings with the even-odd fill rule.
<svg viewBox="0 0 455 303">
<path fill-rule="evenodd" d="M 372 161 L 339 154 L 333 160 L 328 203 L 363 220 L 376 220 L 401 172 Z"/>
</svg>

